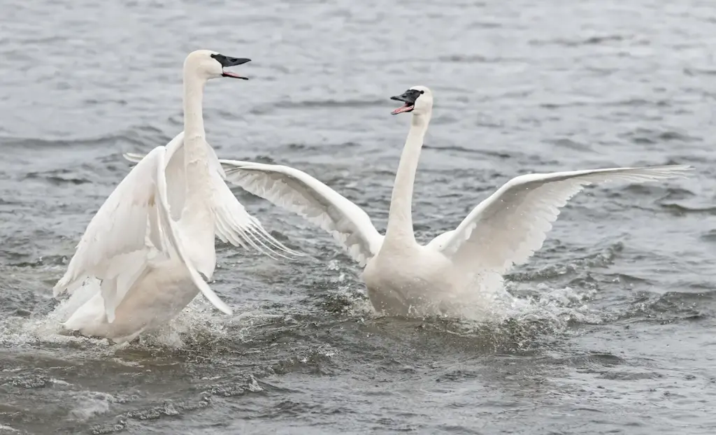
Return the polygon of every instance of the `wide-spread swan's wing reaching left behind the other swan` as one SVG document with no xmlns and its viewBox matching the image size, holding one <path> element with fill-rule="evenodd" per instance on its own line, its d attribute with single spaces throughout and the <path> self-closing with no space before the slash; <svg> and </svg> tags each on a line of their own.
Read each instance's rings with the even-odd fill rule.
<svg viewBox="0 0 716 435">
<path fill-rule="evenodd" d="M 379 251 L 383 236 L 365 211 L 309 174 L 288 166 L 220 162 L 227 181 L 328 231 L 361 266 Z"/>
</svg>

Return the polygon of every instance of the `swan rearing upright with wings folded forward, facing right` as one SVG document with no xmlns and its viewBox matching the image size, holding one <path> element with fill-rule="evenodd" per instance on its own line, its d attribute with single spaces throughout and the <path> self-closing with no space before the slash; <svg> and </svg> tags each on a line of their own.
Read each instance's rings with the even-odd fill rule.
<svg viewBox="0 0 716 435">
<path fill-rule="evenodd" d="M 205 140 L 205 82 L 218 77 L 248 80 L 225 68 L 250 60 L 205 49 L 188 54 L 183 132 L 150 151 L 125 176 L 92 217 L 54 286 L 54 297 L 72 295 L 83 286 L 88 291 L 82 293 L 91 295 L 62 323 L 66 330 L 115 343 L 130 341 L 171 320 L 199 292 L 231 315 L 205 281 L 216 267 L 215 236 L 266 253 L 294 253 L 233 196 Z"/>
</svg>

